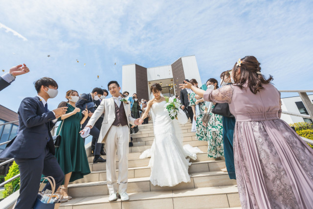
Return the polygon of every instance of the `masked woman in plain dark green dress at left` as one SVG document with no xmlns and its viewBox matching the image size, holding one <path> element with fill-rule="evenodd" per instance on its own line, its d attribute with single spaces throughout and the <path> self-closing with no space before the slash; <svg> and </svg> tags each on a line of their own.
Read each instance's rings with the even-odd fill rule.
<svg viewBox="0 0 313 209">
<path fill-rule="evenodd" d="M 68 183 L 82 179 L 84 175 L 90 173 L 84 139 L 79 134 L 81 124 L 88 117 L 88 110 L 81 112 L 79 108 L 75 107 L 75 103 L 79 99 L 76 91 L 67 91 L 66 98 L 67 103 L 62 102 L 59 105 L 67 106 L 68 108 L 67 113 L 59 118 L 62 122 L 58 127 L 57 135 L 60 135 L 62 138 L 60 146 L 55 149 L 55 157 L 65 174 L 64 183 L 61 186 L 61 194 L 63 198 L 70 200 L 72 198 L 67 194 Z"/>
</svg>

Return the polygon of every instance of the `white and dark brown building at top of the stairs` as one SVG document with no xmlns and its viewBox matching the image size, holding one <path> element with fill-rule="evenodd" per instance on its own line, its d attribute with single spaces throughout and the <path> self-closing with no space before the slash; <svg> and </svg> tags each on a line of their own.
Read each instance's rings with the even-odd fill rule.
<svg viewBox="0 0 313 209">
<path fill-rule="evenodd" d="M 122 67 L 122 88 L 130 95 L 137 93 L 139 99 L 150 98 L 150 87 L 154 83 L 162 86 L 165 96 L 179 95 L 179 84 L 185 79 L 195 78 L 202 86 L 196 56 L 180 57 L 171 65 L 145 68 L 137 64 Z"/>
</svg>

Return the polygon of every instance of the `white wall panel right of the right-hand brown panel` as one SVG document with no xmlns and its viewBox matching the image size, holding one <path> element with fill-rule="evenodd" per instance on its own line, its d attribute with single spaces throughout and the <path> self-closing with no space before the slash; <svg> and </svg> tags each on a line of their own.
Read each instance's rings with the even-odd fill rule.
<svg viewBox="0 0 313 209">
<path fill-rule="evenodd" d="M 197 65 L 196 56 L 181 57 L 182 67 L 184 68 L 185 78 L 195 78 L 198 81 L 198 86 L 202 86 L 201 77 Z M 204 81 L 205 82 L 205 81 Z"/>
</svg>

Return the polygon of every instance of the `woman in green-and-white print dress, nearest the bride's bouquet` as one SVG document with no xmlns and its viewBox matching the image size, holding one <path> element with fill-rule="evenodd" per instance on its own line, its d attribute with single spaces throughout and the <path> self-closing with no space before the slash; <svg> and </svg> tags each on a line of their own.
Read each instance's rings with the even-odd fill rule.
<svg viewBox="0 0 313 209">
<path fill-rule="evenodd" d="M 198 88 L 198 82 L 196 79 L 191 79 L 190 83 Z M 197 100 L 196 93 L 190 94 L 189 105 L 194 113 L 194 120 L 196 120 L 196 139 L 200 141 L 207 141 L 207 128 L 202 124 L 202 116 L 205 110 L 205 104 L 201 100 Z"/>
</svg>

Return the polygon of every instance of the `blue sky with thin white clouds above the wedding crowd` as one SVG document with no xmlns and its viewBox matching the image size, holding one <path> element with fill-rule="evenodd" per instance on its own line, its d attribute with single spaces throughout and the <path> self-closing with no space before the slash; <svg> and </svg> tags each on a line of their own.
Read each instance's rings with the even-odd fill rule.
<svg viewBox="0 0 313 209">
<path fill-rule="evenodd" d="M 0 2 L 0 70 L 31 70 L 0 92 L 0 104 L 14 111 L 36 95 L 40 77 L 59 84 L 48 101 L 54 109 L 67 90 L 121 84 L 122 65 L 156 67 L 188 55 L 196 55 L 202 82 L 254 55 L 277 89 L 313 89 L 311 0 Z"/>
</svg>

